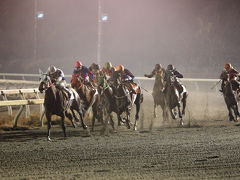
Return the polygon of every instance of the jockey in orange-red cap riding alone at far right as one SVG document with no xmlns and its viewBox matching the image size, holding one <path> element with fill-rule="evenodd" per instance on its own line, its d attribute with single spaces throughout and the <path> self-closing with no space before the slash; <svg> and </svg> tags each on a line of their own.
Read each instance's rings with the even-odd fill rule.
<svg viewBox="0 0 240 180">
<path fill-rule="evenodd" d="M 237 81 L 237 77 L 240 77 L 240 73 L 232 67 L 230 63 L 226 63 L 223 71 L 220 75 L 220 79 L 222 80 L 221 84 L 221 90 L 220 92 L 223 92 L 224 82 L 229 80 L 232 83 L 232 88 L 234 91 L 237 91 L 237 93 L 240 93 L 240 87 L 239 87 L 239 79 Z"/>
</svg>

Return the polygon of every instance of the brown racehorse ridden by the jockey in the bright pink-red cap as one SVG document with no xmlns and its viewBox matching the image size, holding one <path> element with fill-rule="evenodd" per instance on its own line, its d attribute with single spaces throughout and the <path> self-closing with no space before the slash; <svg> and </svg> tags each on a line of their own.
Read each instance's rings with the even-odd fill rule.
<svg viewBox="0 0 240 180">
<path fill-rule="evenodd" d="M 92 116 L 92 131 L 94 131 L 95 119 L 102 122 L 101 110 L 100 108 L 100 94 L 97 89 L 90 87 L 83 78 L 78 77 L 74 83 L 72 83 L 72 88 L 74 88 L 79 94 L 80 98 L 84 101 L 84 111 L 90 114 L 93 112 Z M 84 113 L 85 113 L 84 112 Z"/>
</svg>

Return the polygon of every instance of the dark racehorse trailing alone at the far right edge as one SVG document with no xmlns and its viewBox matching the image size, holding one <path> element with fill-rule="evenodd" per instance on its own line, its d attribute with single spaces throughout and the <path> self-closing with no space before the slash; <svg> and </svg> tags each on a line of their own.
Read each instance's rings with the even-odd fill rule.
<svg viewBox="0 0 240 180">
<path fill-rule="evenodd" d="M 232 83 L 229 81 L 228 78 L 227 80 L 224 81 L 223 96 L 228 108 L 229 120 L 237 122 L 238 117 L 240 117 L 238 111 L 238 103 L 234 91 L 232 89 Z M 233 116 L 232 111 L 234 112 L 235 117 Z"/>
</svg>

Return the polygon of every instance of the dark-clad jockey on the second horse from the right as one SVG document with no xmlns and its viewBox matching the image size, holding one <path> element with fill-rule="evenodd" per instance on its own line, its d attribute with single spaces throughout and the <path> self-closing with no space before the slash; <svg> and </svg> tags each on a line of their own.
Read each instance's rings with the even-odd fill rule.
<svg viewBox="0 0 240 180">
<path fill-rule="evenodd" d="M 179 73 L 176 70 L 176 68 L 174 68 L 174 66 L 172 64 L 169 64 L 167 66 L 167 70 L 166 70 L 165 77 L 164 77 L 164 81 L 166 82 L 166 86 L 165 86 L 163 92 L 166 93 L 168 85 L 171 82 L 171 78 L 174 78 L 174 82 L 177 85 L 176 87 L 177 87 L 179 93 L 181 93 L 183 91 L 182 85 L 179 83 L 177 78 L 183 78 L 183 75 L 181 73 Z"/>
</svg>

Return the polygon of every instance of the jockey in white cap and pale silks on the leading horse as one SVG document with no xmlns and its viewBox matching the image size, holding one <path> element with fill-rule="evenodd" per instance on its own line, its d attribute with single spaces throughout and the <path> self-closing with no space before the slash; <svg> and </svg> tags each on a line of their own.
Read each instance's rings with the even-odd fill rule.
<svg viewBox="0 0 240 180">
<path fill-rule="evenodd" d="M 71 97 L 71 92 L 66 88 L 66 78 L 61 69 L 56 68 L 55 66 L 49 66 L 47 70 L 47 75 L 50 77 L 51 81 L 55 83 L 55 86 L 63 91 L 65 91 L 68 97 Z"/>
</svg>

